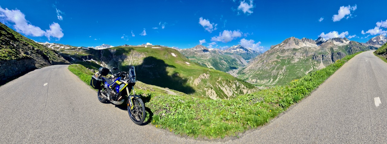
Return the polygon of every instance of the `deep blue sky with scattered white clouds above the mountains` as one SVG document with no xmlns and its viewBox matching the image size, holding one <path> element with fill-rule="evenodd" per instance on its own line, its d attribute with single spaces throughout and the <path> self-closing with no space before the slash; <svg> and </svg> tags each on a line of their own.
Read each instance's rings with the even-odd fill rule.
<svg viewBox="0 0 387 144">
<path fill-rule="evenodd" d="M 0 7 L 0 22 L 28 38 L 73 46 L 192 48 L 205 39 L 211 48 L 267 50 L 292 36 L 366 42 L 387 31 L 385 0 L 7 0 Z"/>
</svg>

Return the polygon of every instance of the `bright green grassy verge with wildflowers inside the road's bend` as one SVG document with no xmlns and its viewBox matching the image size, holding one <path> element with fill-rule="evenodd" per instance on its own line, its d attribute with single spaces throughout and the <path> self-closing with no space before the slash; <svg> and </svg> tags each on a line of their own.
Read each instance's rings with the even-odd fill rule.
<svg viewBox="0 0 387 144">
<path fill-rule="evenodd" d="M 360 52 L 359 52 L 360 53 Z M 175 134 L 219 138 L 264 125 L 289 106 L 308 96 L 353 54 L 285 86 L 276 86 L 235 99 L 200 99 L 138 91 L 151 109 L 151 123 Z M 70 68 L 69 68 L 70 69 Z"/>
</svg>

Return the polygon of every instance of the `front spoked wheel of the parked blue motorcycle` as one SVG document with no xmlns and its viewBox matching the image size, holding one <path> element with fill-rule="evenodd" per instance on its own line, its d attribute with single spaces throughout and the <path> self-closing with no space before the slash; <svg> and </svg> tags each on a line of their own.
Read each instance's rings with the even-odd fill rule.
<svg viewBox="0 0 387 144">
<path fill-rule="evenodd" d="M 140 98 L 133 98 L 133 107 L 129 106 L 130 98 L 128 98 L 128 113 L 130 119 L 137 125 L 141 125 L 144 122 L 146 112 L 144 102 Z"/>
</svg>

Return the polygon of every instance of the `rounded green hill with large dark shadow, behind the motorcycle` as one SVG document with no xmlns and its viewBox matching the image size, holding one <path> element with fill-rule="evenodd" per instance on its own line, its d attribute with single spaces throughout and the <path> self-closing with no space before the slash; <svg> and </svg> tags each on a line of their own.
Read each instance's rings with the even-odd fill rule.
<svg viewBox="0 0 387 144">
<path fill-rule="evenodd" d="M 104 50 L 103 55 L 114 50 L 116 57 L 143 55 L 143 57 L 139 58 L 140 60 L 128 60 L 117 63 L 117 65 L 122 70 L 127 70 L 129 65 L 135 65 L 138 80 L 146 84 L 168 87 L 183 93 L 204 97 L 206 97 L 205 89 L 211 88 L 214 89 L 219 98 L 228 98 L 224 91 L 218 87 L 220 84 L 232 85 L 235 82 L 239 82 L 248 89 L 255 89 L 252 84 L 237 79 L 225 72 L 193 63 L 179 53 L 179 51 L 172 48 L 114 47 Z M 171 53 L 174 53 L 176 57 Z M 105 56 L 108 57 L 108 55 Z M 199 85 L 195 85 L 195 79 L 204 73 L 209 74 L 210 77 L 202 79 Z M 243 93 L 238 88 L 233 89 L 233 91 L 236 94 Z"/>
</svg>

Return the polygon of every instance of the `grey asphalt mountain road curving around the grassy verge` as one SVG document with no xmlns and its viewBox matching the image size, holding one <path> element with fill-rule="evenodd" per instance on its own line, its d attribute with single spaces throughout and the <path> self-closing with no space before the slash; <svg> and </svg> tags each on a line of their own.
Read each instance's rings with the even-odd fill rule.
<svg viewBox="0 0 387 144">
<path fill-rule="evenodd" d="M 0 143 L 387 143 L 386 72 L 387 63 L 363 52 L 269 124 L 239 138 L 197 141 L 135 125 L 67 65 L 54 65 L 0 87 Z"/>
</svg>

